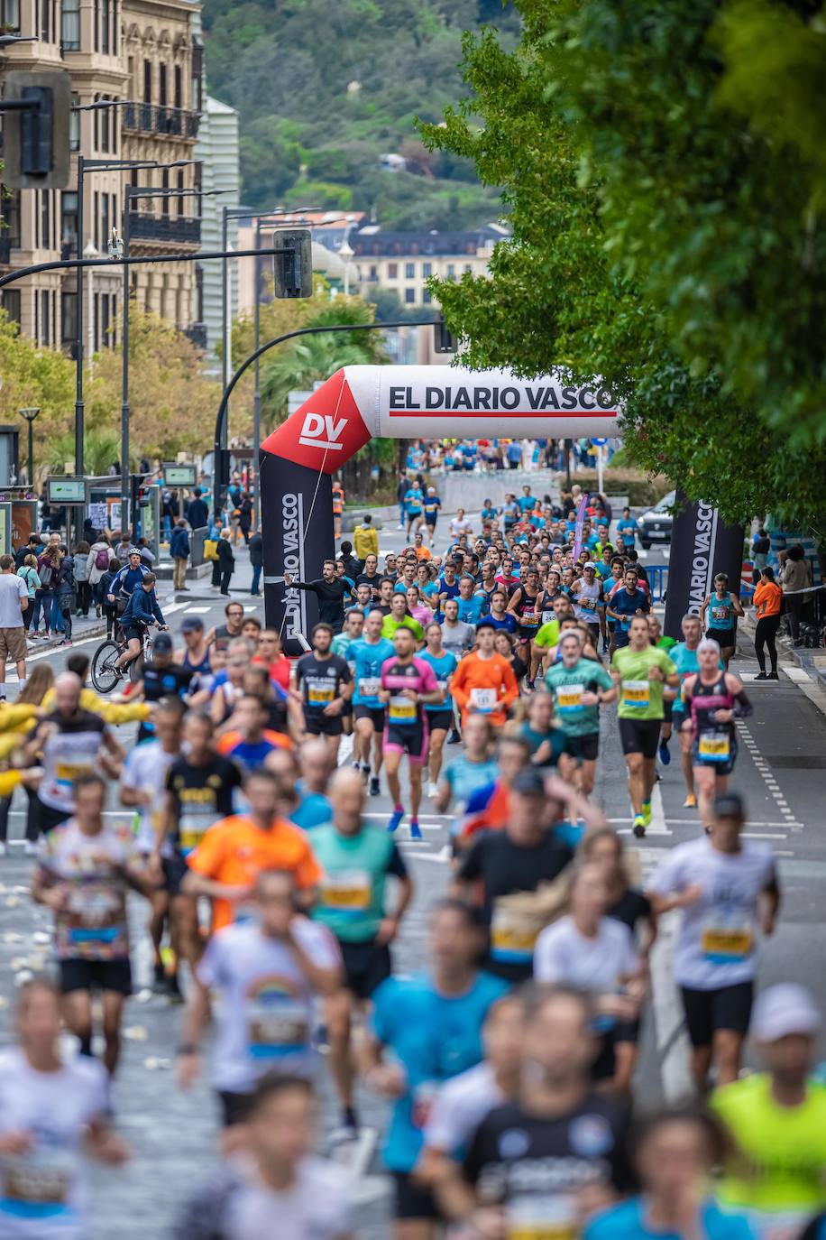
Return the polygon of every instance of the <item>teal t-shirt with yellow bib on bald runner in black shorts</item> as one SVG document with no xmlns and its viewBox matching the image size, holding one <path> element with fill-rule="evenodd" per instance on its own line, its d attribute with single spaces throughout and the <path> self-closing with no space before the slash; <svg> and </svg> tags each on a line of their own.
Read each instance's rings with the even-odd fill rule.
<svg viewBox="0 0 826 1240">
<path fill-rule="evenodd" d="M 324 872 L 313 921 L 323 923 L 342 942 L 372 942 L 384 916 L 388 874 L 407 874 L 393 837 L 379 827 L 346 836 L 328 822 L 313 831 L 312 851 Z"/>
</svg>

